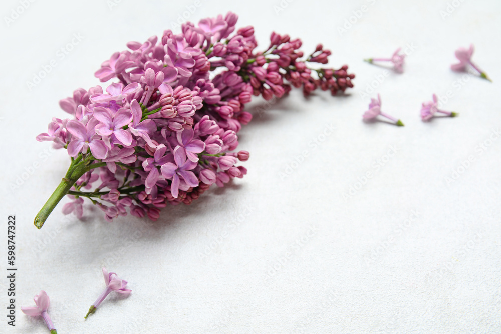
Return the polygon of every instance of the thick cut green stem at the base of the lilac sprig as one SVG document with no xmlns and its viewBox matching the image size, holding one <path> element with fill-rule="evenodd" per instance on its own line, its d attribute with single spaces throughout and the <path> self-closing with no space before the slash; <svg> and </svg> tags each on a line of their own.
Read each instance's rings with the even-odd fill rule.
<svg viewBox="0 0 501 334">
<path fill-rule="evenodd" d="M 56 190 L 52 193 L 51 197 L 44 204 L 40 212 L 35 217 L 34 225 L 41 229 L 44 226 L 45 221 L 51 214 L 52 210 L 58 205 L 61 199 L 68 194 L 71 187 L 78 181 L 78 179 L 87 173 L 89 170 L 97 167 L 102 167 L 106 165 L 106 162 L 99 162 L 94 164 L 88 164 L 89 161 L 82 160 L 82 155 L 78 156 L 70 164 L 68 172 L 65 177 L 61 180 L 61 183 L 57 186 Z"/>
</svg>

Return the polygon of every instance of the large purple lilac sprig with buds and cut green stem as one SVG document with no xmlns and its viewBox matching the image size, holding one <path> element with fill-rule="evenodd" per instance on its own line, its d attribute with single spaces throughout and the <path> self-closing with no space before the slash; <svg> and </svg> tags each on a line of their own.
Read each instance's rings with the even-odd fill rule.
<svg viewBox="0 0 501 334">
<path fill-rule="evenodd" d="M 185 23 L 181 34 L 166 30 L 129 42 L 95 73 L 101 82 L 117 82 L 105 90 L 79 88 L 60 101 L 72 119 L 53 118 L 37 140 L 66 148 L 72 162 L 35 219 L 38 228 L 67 194 L 73 201 L 65 214 L 81 217 L 87 197 L 108 221 L 127 211 L 156 220 L 168 203 L 189 204 L 213 183 L 222 187 L 246 174 L 236 164 L 249 153 L 233 151 L 241 125 L 252 119 L 244 110 L 252 95 L 280 98 L 291 85 L 305 96 L 353 87 L 346 65 L 309 67 L 327 63 L 331 52 L 321 44 L 300 60 L 301 40 L 272 33 L 268 49 L 257 52 L 254 28 L 235 32 L 237 18 L 229 12 Z"/>
</svg>

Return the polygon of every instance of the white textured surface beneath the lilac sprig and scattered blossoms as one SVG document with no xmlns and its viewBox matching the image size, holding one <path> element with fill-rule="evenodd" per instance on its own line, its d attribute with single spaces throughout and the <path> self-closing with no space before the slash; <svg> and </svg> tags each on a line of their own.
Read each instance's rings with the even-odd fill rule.
<svg viewBox="0 0 501 334">
<path fill-rule="evenodd" d="M 300 37 L 305 53 L 324 43 L 332 66 L 356 74 L 355 88 L 308 100 L 293 92 L 261 117 L 262 101 L 249 105 L 255 119 L 239 146 L 251 153 L 248 174 L 191 206 L 164 209 L 155 224 L 107 223 L 90 206 L 79 221 L 59 205 L 39 231 L 33 218 L 69 164 L 66 152 L 44 153 L 50 143 L 35 141 L 53 116 L 67 116 L 58 101 L 98 84 L 102 61 L 128 41 L 161 35 L 194 3 L 111 1 L 39 0 L 9 25 L 20 2 L 0 6 L 0 332 L 47 332 L 19 309 L 41 289 L 59 333 L 501 331 L 500 2 L 284 0 L 277 12 L 279 0 L 202 0 L 190 20 L 231 10 L 265 48 L 273 30 Z M 73 34 L 82 41 L 58 58 Z M 459 82 L 450 71 L 454 50 L 470 43 L 493 83 Z M 390 70 L 369 94 L 379 92 L 405 127 L 362 122 L 369 99 L 360 94 L 385 70 L 362 59 L 406 46 L 405 72 Z M 27 81 L 52 59 L 57 66 L 30 91 Z M 460 116 L 421 122 L 421 103 L 448 91 L 443 109 Z M 324 137 L 328 125 L 334 131 Z M 9 214 L 17 219 L 15 328 L 5 308 Z M 103 266 L 133 292 L 111 295 L 84 321 L 104 289 Z"/>
</svg>

